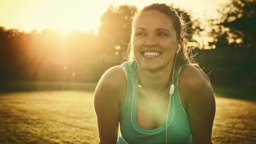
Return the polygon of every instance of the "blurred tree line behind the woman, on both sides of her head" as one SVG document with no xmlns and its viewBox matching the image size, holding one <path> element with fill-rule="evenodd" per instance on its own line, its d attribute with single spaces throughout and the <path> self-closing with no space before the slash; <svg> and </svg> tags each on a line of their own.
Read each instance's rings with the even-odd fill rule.
<svg viewBox="0 0 256 144">
<path fill-rule="evenodd" d="M 189 12 L 175 8 L 187 23 L 188 45 L 204 30 Z M 211 19 L 209 46 L 255 48 L 256 2 L 233 0 L 222 17 Z M 20 32 L 0 27 L 0 80 L 98 80 L 110 66 L 121 64 L 137 8 L 110 6 L 97 35 L 80 30 L 62 34 L 54 29 Z"/>
</svg>

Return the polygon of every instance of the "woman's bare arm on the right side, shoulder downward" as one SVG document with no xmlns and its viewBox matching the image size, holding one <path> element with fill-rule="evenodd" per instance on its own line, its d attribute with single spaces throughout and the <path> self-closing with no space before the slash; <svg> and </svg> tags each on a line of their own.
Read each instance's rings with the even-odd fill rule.
<svg viewBox="0 0 256 144">
<path fill-rule="evenodd" d="M 210 84 L 194 66 L 186 66 L 179 79 L 179 88 L 185 97 L 193 143 L 212 143 L 215 98 Z"/>
</svg>

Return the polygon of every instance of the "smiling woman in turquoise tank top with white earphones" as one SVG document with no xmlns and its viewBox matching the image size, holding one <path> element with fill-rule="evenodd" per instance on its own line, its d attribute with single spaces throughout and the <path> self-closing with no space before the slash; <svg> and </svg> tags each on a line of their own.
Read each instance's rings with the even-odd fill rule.
<svg viewBox="0 0 256 144">
<path fill-rule="evenodd" d="M 129 61 L 104 73 L 95 90 L 100 144 L 212 143 L 214 94 L 188 57 L 183 28 L 166 4 L 135 15 Z"/>
</svg>

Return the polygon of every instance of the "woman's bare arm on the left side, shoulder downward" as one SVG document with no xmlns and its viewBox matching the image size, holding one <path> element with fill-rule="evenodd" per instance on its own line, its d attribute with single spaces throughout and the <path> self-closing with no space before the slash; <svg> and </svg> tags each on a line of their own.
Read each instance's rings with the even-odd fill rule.
<svg viewBox="0 0 256 144">
<path fill-rule="evenodd" d="M 100 143 L 117 143 L 120 98 L 125 95 L 123 70 L 115 66 L 104 73 L 94 94 Z"/>
</svg>

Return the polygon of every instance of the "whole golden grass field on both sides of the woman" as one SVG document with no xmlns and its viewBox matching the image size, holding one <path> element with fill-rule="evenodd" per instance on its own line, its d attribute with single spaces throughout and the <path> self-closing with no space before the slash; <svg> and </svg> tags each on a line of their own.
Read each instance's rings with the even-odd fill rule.
<svg viewBox="0 0 256 144">
<path fill-rule="evenodd" d="M 98 143 L 93 92 L 0 93 L 0 143 Z M 256 141 L 256 101 L 216 96 L 214 144 Z"/>
</svg>

